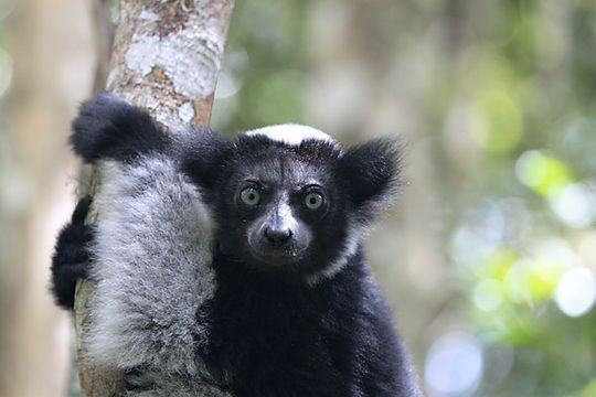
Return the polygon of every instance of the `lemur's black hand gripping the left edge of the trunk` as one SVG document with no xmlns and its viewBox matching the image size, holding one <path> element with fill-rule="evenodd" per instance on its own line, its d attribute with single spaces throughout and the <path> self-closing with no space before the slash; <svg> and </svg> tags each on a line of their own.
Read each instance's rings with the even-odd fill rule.
<svg viewBox="0 0 596 397">
<path fill-rule="evenodd" d="M 95 229 L 85 225 L 92 197 L 81 198 L 73 212 L 71 223 L 60 232 L 52 256 L 52 293 L 56 303 L 64 309 L 73 309 L 76 280 L 88 278 L 89 243 Z"/>
</svg>

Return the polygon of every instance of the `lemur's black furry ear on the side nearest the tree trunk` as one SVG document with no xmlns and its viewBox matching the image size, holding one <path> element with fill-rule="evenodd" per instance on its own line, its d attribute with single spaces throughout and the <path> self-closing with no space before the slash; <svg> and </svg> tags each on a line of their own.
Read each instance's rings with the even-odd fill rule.
<svg viewBox="0 0 596 397">
<path fill-rule="evenodd" d="M 233 153 L 233 143 L 217 132 L 189 131 L 180 137 L 182 171 L 199 186 L 212 189 Z"/>
</svg>

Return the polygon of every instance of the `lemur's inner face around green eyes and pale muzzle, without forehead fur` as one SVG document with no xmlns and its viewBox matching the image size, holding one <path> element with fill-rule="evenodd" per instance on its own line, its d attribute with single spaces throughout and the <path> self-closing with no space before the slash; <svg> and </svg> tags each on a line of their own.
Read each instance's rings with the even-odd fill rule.
<svg viewBox="0 0 596 397">
<path fill-rule="evenodd" d="M 298 159 L 277 158 L 234 175 L 234 211 L 251 261 L 287 266 L 302 260 L 332 197 L 324 174 Z M 291 167 L 298 165 L 298 167 Z M 273 167 L 264 167 L 273 165 Z"/>
</svg>

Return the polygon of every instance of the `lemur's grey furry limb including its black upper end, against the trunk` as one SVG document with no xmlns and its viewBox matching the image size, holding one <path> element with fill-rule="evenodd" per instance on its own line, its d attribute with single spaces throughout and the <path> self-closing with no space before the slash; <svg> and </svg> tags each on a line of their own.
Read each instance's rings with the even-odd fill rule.
<svg viewBox="0 0 596 397">
<path fill-rule="evenodd" d="M 196 374 L 209 332 L 201 319 L 215 291 L 213 225 L 201 189 L 180 171 L 183 143 L 107 94 L 81 107 L 73 131 L 74 151 L 99 165 L 89 357 L 125 371 Z"/>
</svg>

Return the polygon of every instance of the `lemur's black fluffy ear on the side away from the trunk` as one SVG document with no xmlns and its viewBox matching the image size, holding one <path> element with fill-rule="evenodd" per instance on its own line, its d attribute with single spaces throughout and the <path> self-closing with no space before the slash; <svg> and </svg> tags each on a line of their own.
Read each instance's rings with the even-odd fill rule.
<svg viewBox="0 0 596 397">
<path fill-rule="evenodd" d="M 356 207 L 392 198 L 400 186 L 400 146 L 390 139 L 351 147 L 338 161 L 339 176 Z"/>
</svg>

